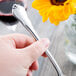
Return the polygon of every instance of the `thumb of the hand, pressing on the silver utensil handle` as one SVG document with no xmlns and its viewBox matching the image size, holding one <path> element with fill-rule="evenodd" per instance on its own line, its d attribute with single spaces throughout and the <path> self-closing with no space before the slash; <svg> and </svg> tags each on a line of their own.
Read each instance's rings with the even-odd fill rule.
<svg viewBox="0 0 76 76">
<path fill-rule="evenodd" d="M 48 39 L 41 39 L 34 42 L 30 46 L 24 48 L 25 53 L 27 53 L 28 60 L 30 63 L 34 62 L 41 56 L 49 47 L 50 41 Z"/>
</svg>

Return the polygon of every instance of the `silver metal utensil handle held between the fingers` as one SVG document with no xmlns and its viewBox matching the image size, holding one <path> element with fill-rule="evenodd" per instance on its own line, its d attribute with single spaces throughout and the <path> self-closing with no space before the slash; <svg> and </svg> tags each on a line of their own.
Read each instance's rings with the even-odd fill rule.
<svg viewBox="0 0 76 76">
<path fill-rule="evenodd" d="M 12 7 L 12 13 L 22 23 L 24 28 L 34 37 L 35 40 L 40 39 L 38 34 L 36 33 L 36 31 L 34 30 L 32 23 L 29 20 L 24 7 L 22 7 L 18 4 L 14 4 Z M 50 62 L 54 66 L 55 70 L 57 71 L 58 76 L 64 76 L 59 65 L 57 64 L 57 62 L 55 61 L 54 57 L 49 52 L 49 50 L 47 50 L 45 53 L 47 54 Z"/>
</svg>

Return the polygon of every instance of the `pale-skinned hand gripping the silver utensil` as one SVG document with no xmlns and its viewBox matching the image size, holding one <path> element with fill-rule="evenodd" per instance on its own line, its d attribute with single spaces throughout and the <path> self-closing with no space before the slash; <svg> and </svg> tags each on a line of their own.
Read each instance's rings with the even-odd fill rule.
<svg viewBox="0 0 76 76">
<path fill-rule="evenodd" d="M 48 39 L 36 41 L 23 34 L 0 37 L 0 76 L 32 76 L 37 59 L 49 46 Z"/>
</svg>

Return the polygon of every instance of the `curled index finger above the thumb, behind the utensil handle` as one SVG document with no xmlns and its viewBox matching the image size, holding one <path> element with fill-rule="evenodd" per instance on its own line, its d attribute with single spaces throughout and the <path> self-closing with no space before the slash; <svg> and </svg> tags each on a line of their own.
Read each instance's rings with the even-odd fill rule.
<svg viewBox="0 0 76 76">
<path fill-rule="evenodd" d="M 5 38 L 6 37 L 7 39 L 11 40 L 12 44 L 14 44 L 14 47 L 16 48 L 24 48 L 25 46 L 28 46 L 35 41 L 33 38 L 30 38 L 24 34 L 11 34 L 6 35 Z"/>
</svg>

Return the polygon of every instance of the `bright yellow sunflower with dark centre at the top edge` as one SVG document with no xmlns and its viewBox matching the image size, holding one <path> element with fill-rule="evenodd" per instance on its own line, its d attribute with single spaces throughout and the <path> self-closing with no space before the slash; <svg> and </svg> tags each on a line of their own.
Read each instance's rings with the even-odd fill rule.
<svg viewBox="0 0 76 76">
<path fill-rule="evenodd" d="M 34 0 L 32 7 L 39 10 L 43 22 L 48 18 L 51 23 L 58 25 L 75 13 L 76 0 Z"/>
</svg>

